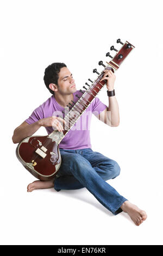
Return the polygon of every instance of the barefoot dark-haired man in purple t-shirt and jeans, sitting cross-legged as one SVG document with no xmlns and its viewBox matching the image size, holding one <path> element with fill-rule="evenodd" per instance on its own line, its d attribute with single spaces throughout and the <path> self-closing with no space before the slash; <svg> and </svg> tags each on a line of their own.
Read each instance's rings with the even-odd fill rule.
<svg viewBox="0 0 163 256">
<path fill-rule="evenodd" d="M 104 72 L 101 81 L 106 80 L 106 88 L 109 92 L 112 92 L 116 77 L 111 70 L 105 70 Z M 64 63 L 49 65 L 45 70 L 43 79 L 49 92 L 53 95 L 37 107 L 32 115 L 15 129 L 12 136 L 14 143 L 19 143 L 22 139 L 32 136 L 41 126 L 46 128 L 48 134 L 55 129 L 62 132 L 66 119 L 57 117 L 55 113 L 58 113 L 58 111 L 62 113 L 68 103 L 77 102 L 78 97 L 82 96 L 82 92 L 76 89 L 70 70 Z M 79 121 L 88 111 L 89 121 L 93 113 L 107 125 L 114 127 L 120 123 L 118 103 L 114 94 L 109 96 L 109 107 L 96 97 L 78 119 L 76 125 L 80 124 Z M 87 122 L 86 120 L 83 123 Z M 81 128 L 80 125 L 79 127 Z M 127 212 L 136 225 L 140 225 L 146 220 L 145 211 L 131 204 L 128 199 L 122 197 L 105 182 L 116 178 L 120 174 L 120 166 L 116 161 L 91 149 L 89 124 L 86 129 L 71 129 L 60 142 L 59 150 L 62 162 L 55 178 L 49 181 L 34 181 L 28 185 L 28 192 L 38 188 L 54 187 L 56 191 L 60 191 L 86 187 L 112 214 L 117 215 L 122 211 Z"/>
</svg>

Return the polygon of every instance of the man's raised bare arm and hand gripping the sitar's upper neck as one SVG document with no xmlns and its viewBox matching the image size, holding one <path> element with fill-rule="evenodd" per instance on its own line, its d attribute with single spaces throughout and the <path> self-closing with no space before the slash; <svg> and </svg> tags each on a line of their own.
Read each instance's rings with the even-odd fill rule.
<svg viewBox="0 0 163 256">
<path fill-rule="evenodd" d="M 111 70 L 104 70 L 105 74 L 101 81 L 106 80 L 106 87 L 108 91 L 114 90 L 114 83 L 116 76 Z M 100 82 L 101 82 L 100 81 Z M 109 107 L 105 108 L 103 112 L 101 112 L 96 117 L 103 121 L 103 123 L 116 127 L 120 124 L 120 113 L 119 113 L 119 107 L 118 102 L 116 99 L 116 96 L 109 96 Z"/>
</svg>

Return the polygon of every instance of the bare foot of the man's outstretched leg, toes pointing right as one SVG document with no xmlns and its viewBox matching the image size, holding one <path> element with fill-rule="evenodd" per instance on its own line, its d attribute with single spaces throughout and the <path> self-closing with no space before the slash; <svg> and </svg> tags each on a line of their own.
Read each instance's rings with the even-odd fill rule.
<svg viewBox="0 0 163 256">
<path fill-rule="evenodd" d="M 128 200 L 121 205 L 121 209 L 130 216 L 131 220 L 139 226 L 146 220 L 147 214 L 145 211 L 139 209 L 136 205 L 131 204 Z"/>
</svg>

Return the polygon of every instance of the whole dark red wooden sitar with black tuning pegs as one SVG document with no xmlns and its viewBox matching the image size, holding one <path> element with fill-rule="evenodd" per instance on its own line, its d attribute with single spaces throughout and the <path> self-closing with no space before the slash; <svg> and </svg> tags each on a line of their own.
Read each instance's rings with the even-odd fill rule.
<svg viewBox="0 0 163 256">
<path fill-rule="evenodd" d="M 106 53 L 106 57 L 111 58 L 110 62 L 106 62 L 107 65 L 104 65 L 102 60 L 98 63 L 104 67 L 103 71 L 99 73 L 97 69 L 93 69 L 93 73 L 98 75 L 97 79 L 95 81 L 89 79 L 91 85 L 85 83 L 88 86 L 88 88 L 83 86 L 86 89 L 85 92 L 80 89 L 82 96 L 79 97 L 79 100 L 73 102 L 74 105 L 69 103 L 71 108 L 64 117 L 66 121 L 66 124 L 63 124 L 64 131 L 54 130 L 48 136 L 29 136 L 17 145 L 16 156 L 18 160 L 37 179 L 50 180 L 58 173 L 61 165 L 59 143 L 105 86 L 106 80 L 100 82 L 104 70 L 108 69 L 112 72 L 118 70 L 123 60 L 135 48 L 128 41 L 123 44 L 121 39 L 117 39 L 117 43 L 122 45 L 120 50 L 116 50 L 114 46 L 110 47 L 111 51 L 116 51 L 114 57 L 109 52 Z"/>
</svg>

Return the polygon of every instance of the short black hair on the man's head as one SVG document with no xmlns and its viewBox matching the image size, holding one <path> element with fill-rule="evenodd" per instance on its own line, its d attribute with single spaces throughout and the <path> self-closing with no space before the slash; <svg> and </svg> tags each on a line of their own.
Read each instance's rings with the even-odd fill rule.
<svg viewBox="0 0 163 256">
<path fill-rule="evenodd" d="M 49 88 L 49 84 L 55 83 L 58 86 L 58 78 L 59 78 L 58 73 L 60 72 L 61 68 L 64 68 L 64 66 L 67 68 L 65 63 L 55 62 L 55 63 L 52 63 L 51 65 L 48 65 L 47 68 L 45 69 L 43 80 L 51 94 L 54 94 L 54 91 Z"/>
</svg>

